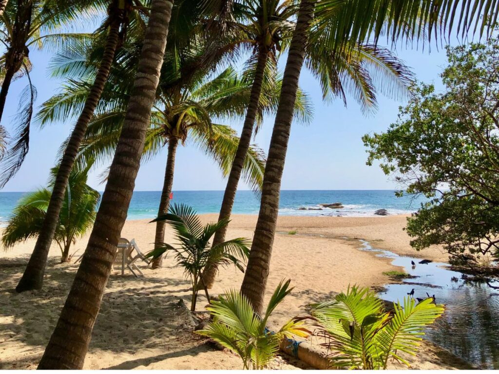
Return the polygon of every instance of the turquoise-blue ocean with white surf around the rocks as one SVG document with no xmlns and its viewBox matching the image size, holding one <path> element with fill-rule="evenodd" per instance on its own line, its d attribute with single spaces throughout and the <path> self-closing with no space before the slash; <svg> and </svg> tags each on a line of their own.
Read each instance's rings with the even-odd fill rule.
<svg viewBox="0 0 499 374">
<path fill-rule="evenodd" d="M 0 222 L 5 221 L 24 192 L 0 192 Z M 218 213 L 224 191 L 173 191 L 174 203 L 194 207 L 198 213 Z M 135 191 L 128 219 L 153 219 L 158 211 L 161 191 Z M 390 214 L 407 214 L 418 209 L 425 198 L 396 197 L 394 190 L 282 190 L 279 214 L 305 216 L 372 216 L 378 209 Z M 258 214 L 259 199 L 252 191 L 238 191 L 234 213 Z M 343 208 L 320 208 L 320 203 L 341 202 Z"/>
</svg>

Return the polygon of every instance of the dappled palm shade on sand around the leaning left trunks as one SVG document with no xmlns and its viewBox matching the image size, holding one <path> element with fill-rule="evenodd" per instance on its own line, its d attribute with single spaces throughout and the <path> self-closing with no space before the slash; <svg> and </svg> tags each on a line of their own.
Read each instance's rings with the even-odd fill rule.
<svg viewBox="0 0 499 374">
<path fill-rule="evenodd" d="M 14 290 L 26 262 L 0 260 L 0 341 L 39 351 L 48 343 L 74 279 L 77 264 L 50 258 L 43 289 L 17 294 Z M 135 353 L 158 348 L 171 335 L 192 335 L 196 321 L 179 299 L 190 299 L 183 279 L 135 278 L 111 275 L 95 323 L 90 352 Z M 26 347 L 31 346 L 32 348 Z M 177 347 L 178 349 L 179 347 Z M 15 353 L 14 353 L 15 355 Z M 2 362 L 11 358 L 3 357 Z"/>
</svg>

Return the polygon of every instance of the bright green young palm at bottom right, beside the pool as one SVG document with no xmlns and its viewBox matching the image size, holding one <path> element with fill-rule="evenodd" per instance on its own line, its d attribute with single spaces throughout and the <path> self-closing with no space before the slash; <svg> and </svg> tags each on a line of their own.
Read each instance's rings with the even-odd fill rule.
<svg viewBox="0 0 499 374">
<path fill-rule="evenodd" d="M 400 353 L 416 356 L 424 329 L 444 313 L 444 306 L 432 298 L 416 304 L 410 296 L 386 312 L 374 292 L 356 286 L 311 308 L 315 334 L 332 351 L 332 366 L 365 370 L 387 369 L 389 359 L 409 367 Z"/>
</svg>

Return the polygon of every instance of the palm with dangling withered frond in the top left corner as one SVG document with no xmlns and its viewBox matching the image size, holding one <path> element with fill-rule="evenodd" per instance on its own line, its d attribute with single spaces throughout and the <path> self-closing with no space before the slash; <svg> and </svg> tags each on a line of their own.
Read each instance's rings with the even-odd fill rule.
<svg viewBox="0 0 499 374">
<path fill-rule="evenodd" d="M 100 2 L 11 0 L 0 14 L 0 42 L 5 47 L 0 55 L 0 122 L 12 80 L 23 75 L 28 78 L 28 85 L 20 98 L 16 134 L 11 137 L 9 149 L 0 159 L 0 188 L 19 170 L 29 149 L 29 127 L 36 99 L 36 90 L 29 78 L 32 69 L 29 50 L 57 48 L 87 38 L 85 33 L 63 32 L 64 26 L 85 14 L 90 7 L 99 6 Z"/>
</svg>

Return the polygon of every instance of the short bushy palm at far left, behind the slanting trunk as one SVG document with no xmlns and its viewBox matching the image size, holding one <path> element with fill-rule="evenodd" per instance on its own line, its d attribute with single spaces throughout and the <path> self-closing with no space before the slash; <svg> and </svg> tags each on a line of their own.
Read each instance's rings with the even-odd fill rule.
<svg viewBox="0 0 499 374">
<path fill-rule="evenodd" d="M 87 185 L 85 170 L 73 169 L 64 195 L 61 214 L 57 221 L 54 241 L 61 250 L 61 262 L 70 261 L 69 249 L 77 237 L 83 236 L 93 225 L 100 194 Z M 57 168 L 51 170 L 49 188 L 37 189 L 22 196 L 7 220 L 1 241 L 5 249 L 15 243 L 37 237 L 52 194 Z"/>
</svg>

